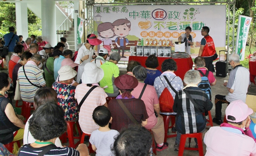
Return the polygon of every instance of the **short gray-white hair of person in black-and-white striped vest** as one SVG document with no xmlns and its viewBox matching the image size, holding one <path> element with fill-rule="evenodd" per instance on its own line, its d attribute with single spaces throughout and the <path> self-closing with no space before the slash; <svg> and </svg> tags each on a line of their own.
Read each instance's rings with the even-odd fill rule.
<svg viewBox="0 0 256 156">
<path fill-rule="evenodd" d="M 188 70 L 184 76 L 186 84 L 199 84 L 201 82 L 201 75 L 197 70 Z"/>
</svg>

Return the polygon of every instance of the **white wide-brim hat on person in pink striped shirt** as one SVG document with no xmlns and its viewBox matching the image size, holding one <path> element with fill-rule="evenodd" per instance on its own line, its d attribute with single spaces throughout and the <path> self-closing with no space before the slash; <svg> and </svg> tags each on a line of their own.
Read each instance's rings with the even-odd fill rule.
<svg viewBox="0 0 256 156">
<path fill-rule="evenodd" d="M 104 71 L 102 68 L 96 66 L 94 62 L 88 62 L 84 66 L 84 72 L 82 74 L 83 84 L 95 84 L 100 82 L 104 77 Z"/>
</svg>

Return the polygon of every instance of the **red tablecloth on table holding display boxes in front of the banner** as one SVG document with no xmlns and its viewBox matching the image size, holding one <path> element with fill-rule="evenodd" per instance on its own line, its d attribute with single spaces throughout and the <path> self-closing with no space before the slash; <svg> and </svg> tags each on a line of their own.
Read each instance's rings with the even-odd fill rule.
<svg viewBox="0 0 256 156">
<path fill-rule="evenodd" d="M 131 60 L 138 61 L 142 66 L 146 67 L 145 63 L 147 58 L 148 57 L 144 57 L 144 56 L 129 56 L 129 61 Z M 156 69 L 161 71 L 162 63 L 166 59 L 168 58 L 158 57 L 159 66 Z M 177 71 L 174 73 L 183 80 L 186 72 L 192 69 L 192 66 L 193 66 L 192 58 L 189 57 L 189 58 L 172 58 L 172 59 L 176 62 L 178 67 Z"/>
</svg>

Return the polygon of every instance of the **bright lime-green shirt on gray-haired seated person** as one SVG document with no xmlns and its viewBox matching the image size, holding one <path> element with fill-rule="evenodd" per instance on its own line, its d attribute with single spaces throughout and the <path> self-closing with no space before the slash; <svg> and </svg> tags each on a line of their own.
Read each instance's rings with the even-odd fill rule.
<svg viewBox="0 0 256 156">
<path fill-rule="evenodd" d="M 100 66 L 104 71 L 104 77 L 100 80 L 100 87 L 108 86 L 106 93 L 116 93 L 118 89 L 114 85 L 114 79 L 119 76 L 119 68 L 113 62 L 105 62 Z"/>
</svg>

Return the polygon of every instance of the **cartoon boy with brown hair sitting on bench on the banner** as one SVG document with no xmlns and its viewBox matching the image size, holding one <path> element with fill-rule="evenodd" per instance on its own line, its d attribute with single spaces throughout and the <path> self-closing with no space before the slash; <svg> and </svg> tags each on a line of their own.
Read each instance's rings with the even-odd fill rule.
<svg viewBox="0 0 256 156">
<path fill-rule="evenodd" d="M 129 31 L 131 30 L 131 22 L 125 19 L 118 19 L 112 23 L 114 26 L 114 33 L 118 36 L 115 40 L 116 46 L 118 48 L 118 53 L 120 54 L 120 50 L 122 48 L 122 58 L 126 58 L 124 56 L 124 48 L 129 43 L 128 39 L 125 36 L 129 35 Z"/>
</svg>

